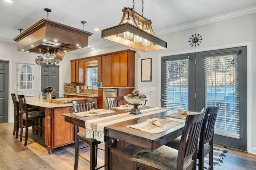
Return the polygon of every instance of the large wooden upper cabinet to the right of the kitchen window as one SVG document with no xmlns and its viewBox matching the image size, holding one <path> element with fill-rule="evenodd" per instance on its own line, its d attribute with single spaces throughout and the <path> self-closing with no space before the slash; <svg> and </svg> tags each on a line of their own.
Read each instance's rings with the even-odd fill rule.
<svg viewBox="0 0 256 170">
<path fill-rule="evenodd" d="M 101 82 L 103 87 L 134 87 L 135 53 L 124 50 L 109 53 L 101 58 Z"/>
</svg>

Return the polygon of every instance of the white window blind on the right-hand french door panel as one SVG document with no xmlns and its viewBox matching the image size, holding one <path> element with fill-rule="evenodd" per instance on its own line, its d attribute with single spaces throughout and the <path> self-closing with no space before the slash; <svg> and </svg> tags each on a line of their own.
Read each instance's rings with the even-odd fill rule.
<svg viewBox="0 0 256 170">
<path fill-rule="evenodd" d="M 237 55 L 205 57 L 206 107 L 220 104 L 214 133 L 239 139 L 239 91 Z"/>
</svg>

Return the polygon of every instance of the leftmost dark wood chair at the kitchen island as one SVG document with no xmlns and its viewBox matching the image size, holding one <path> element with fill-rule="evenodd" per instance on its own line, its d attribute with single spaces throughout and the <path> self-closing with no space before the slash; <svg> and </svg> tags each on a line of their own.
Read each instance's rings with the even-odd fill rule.
<svg viewBox="0 0 256 170">
<path fill-rule="evenodd" d="M 20 108 L 19 108 L 19 102 L 17 101 L 16 94 L 11 93 L 12 96 L 12 102 L 14 107 L 14 125 L 13 125 L 13 135 L 15 135 L 15 138 L 18 139 L 19 134 L 19 128 L 20 128 Z M 36 108 L 28 108 L 28 111 L 36 111 L 38 109 Z"/>
</svg>

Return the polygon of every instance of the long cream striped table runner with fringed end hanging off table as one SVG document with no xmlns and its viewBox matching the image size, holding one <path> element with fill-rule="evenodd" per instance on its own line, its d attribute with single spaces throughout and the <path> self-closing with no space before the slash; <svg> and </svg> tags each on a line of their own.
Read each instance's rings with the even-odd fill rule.
<svg viewBox="0 0 256 170">
<path fill-rule="evenodd" d="M 151 115 L 155 113 L 160 113 L 162 111 L 168 111 L 170 109 L 162 108 L 162 107 L 153 107 L 150 109 L 144 109 L 140 112 L 142 114 L 140 115 L 133 115 L 127 113 L 122 113 L 118 115 L 112 115 L 107 117 L 101 117 L 98 119 L 92 119 L 85 121 L 85 127 L 86 127 L 86 137 L 96 139 L 97 141 L 104 142 L 104 127 L 108 125 L 112 125 L 114 123 L 119 123 L 122 121 L 127 121 L 130 119 L 136 119 L 138 117 L 143 117 L 146 115 Z"/>
</svg>

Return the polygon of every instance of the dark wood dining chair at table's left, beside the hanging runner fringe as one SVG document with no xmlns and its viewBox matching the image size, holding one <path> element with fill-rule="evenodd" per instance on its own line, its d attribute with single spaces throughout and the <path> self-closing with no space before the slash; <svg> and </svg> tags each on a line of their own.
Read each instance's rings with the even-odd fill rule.
<svg viewBox="0 0 256 170">
<path fill-rule="evenodd" d="M 92 108 L 98 109 L 98 103 L 96 98 L 72 100 L 72 105 L 73 105 L 74 113 L 89 111 Z M 78 156 L 80 156 L 82 159 L 90 163 L 90 170 L 98 170 L 104 167 L 103 165 L 95 169 L 95 167 L 97 166 L 98 149 L 100 149 L 98 148 L 98 144 L 100 144 L 101 142 L 96 141 L 95 139 L 86 138 L 86 129 L 79 131 L 78 125 L 75 125 L 75 138 L 76 138 L 76 147 L 75 147 L 74 170 L 78 169 Z M 83 141 L 88 145 L 85 147 L 79 148 L 79 140 Z M 83 149 L 86 147 L 90 147 L 90 160 L 88 160 L 87 158 L 79 154 L 79 149 Z"/>
</svg>

